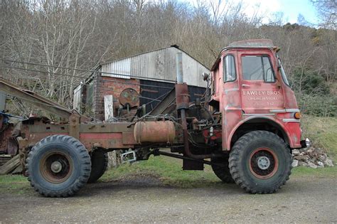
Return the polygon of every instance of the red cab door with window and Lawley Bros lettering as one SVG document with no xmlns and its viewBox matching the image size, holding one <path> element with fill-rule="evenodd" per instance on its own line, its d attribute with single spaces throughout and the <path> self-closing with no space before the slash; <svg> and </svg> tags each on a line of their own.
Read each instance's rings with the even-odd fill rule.
<svg viewBox="0 0 337 224">
<path fill-rule="evenodd" d="M 241 105 L 245 114 L 269 114 L 284 109 L 282 87 L 268 50 L 239 52 Z"/>
</svg>

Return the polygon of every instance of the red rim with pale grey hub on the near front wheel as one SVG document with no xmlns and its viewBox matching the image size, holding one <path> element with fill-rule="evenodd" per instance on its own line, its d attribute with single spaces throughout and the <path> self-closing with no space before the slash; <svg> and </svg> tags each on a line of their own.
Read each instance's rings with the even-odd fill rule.
<svg viewBox="0 0 337 224">
<path fill-rule="evenodd" d="M 249 166 L 254 176 L 265 179 L 274 176 L 279 161 L 272 149 L 258 148 L 250 154 Z"/>
</svg>

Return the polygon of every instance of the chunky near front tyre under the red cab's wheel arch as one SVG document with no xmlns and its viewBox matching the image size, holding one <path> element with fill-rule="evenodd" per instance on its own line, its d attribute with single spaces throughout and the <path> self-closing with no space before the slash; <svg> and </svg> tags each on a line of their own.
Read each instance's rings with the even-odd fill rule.
<svg viewBox="0 0 337 224">
<path fill-rule="evenodd" d="M 261 156 L 256 157 L 257 154 Z M 270 157 L 270 166 L 267 170 L 263 170 L 265 167 L 261 163 L 260 166 L 255 164 L 258 164 L 260 158 L 266 156 Z M 290 149 L 283 139 L 272 132 L 249 132 L 240 137 L 232 147 L 229 167 L 235 183 L 246 192 L 274 193 L 289 180 L 291 174 Z"/>
</svg>

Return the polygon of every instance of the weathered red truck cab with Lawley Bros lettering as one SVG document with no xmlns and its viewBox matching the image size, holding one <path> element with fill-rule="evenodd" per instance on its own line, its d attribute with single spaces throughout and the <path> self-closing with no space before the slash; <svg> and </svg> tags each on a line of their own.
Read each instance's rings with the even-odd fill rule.
<svg viewBox="0 0 337 224">
<path fill-rule="evenodd" d="M 223 150 L 254 130 L 277 133 L 290 148 L 301 148 L 299 108 L 278 50 L 270 40 L 238 41 L 213 65 L 210 105 L 223 114 Z"/>
</svg>

